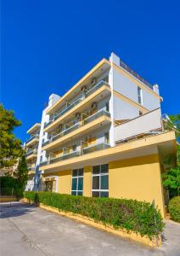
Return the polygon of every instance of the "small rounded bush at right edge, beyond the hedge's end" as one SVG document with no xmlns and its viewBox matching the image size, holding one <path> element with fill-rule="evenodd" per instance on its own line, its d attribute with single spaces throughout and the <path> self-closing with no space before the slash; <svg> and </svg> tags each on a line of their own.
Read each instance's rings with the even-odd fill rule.
<svg viewBox="0 0 180 256">
<path fill-rule="evenodd" d="M 169 202 L 170 217 L 180 223 L 180 196 L 175 196 Z"/>
</svg>

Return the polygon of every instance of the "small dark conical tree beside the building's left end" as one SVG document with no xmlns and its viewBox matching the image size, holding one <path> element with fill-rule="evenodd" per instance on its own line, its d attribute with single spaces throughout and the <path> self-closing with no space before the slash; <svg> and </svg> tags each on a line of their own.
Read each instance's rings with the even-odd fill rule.
<svg viewBox="0 0 180 256">
<path fill-rule="evenodd" d="M 14 172 L 14 177 L 17 179 L 17 187 L 20 190 L 20 195 L 22 195 L 28 179 L 28 168 L 25 155 L 19 159 L 18 168 L 16 172 Z"/>
</svg>

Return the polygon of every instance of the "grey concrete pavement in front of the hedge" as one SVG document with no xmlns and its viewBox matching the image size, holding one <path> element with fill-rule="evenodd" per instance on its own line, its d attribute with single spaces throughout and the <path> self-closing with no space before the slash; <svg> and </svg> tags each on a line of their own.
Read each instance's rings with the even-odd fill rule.
<svg viewBox="0 0 180 256">
<path fill-rule="evenodd" d="M 179 256 L 180 225 L 166 223 L 163 245 L 152 249 L 70 218 L 21 203 L 0 204 L 1 256 Z"/>
</svg>

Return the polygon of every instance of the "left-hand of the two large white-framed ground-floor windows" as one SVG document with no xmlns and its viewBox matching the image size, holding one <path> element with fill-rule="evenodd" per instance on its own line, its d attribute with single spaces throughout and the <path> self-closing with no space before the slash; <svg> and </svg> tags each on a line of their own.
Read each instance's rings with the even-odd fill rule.
<svg viewBox="0 0 180 256">
<path fill-rule="evenodd" d="M 72 171 L 71 195 L 82 195 L 83 192 L 83 169 Z"/>
</svg>

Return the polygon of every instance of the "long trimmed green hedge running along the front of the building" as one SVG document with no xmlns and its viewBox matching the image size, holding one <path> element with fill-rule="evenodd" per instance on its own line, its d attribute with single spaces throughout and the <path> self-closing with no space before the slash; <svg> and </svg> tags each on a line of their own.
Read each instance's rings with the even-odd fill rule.
<svg viewBox="0 0 180 256">
<path fill-rule="evenodd" d="M 82 214 L 104 225 L 112 225 L 115 229 L 149 236 L 150 239 L 159 235 L 164 228 L 160 210 L 145 201 L 32 191 L 25 192 L 24 197 L 60 211 Z"/>
</svg>

